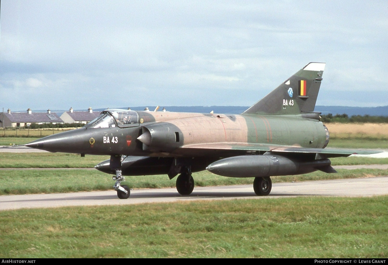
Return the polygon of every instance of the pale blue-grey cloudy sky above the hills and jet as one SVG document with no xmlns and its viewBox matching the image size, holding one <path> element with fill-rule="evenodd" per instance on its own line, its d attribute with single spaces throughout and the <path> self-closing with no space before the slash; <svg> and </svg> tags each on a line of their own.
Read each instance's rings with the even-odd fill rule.
<svg viewBox="0 0 388 265">
<path fill-rule="evenodd" d="M 388 105 L 388 2 L 2 0 L 0 111 L 249 106 L 308 62 L 317 105 Z"/>
</svg>

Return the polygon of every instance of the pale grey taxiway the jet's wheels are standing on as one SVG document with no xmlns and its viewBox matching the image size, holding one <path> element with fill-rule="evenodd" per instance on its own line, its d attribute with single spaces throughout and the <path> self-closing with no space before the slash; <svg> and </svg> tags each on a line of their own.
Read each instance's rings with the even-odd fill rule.
<svg viewBox="0 0 388 265">
<path fill-rule="evenodd" d="M 388 176 L 324 181 L 282 182 L 272 185 L 269 198 L 288 196 L 365 197 L 388 194 Z M 268 198 L 267 197 L 267 198 Z M 181 196 L 175 188 L 132 190 L 129 199 L 120 200 L 115 191 L 27 194 L 0 196 L 0 210 L 51 208 L 62 206 L 130 205 L 195 200 L 261 199 L 252 185 L 196 187 L 190 196 Z"/>
</svg>

